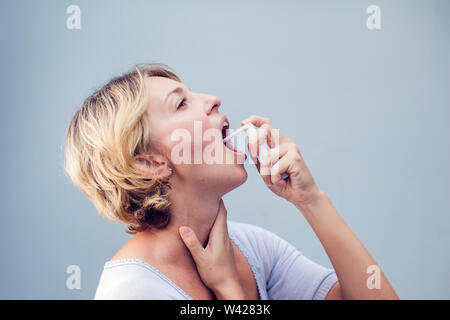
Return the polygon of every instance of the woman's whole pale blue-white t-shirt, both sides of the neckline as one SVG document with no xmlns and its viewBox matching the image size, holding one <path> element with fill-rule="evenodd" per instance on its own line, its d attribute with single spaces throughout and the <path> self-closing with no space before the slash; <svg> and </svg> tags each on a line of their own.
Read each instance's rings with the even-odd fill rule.
<svg viewBox="0 0 450 320">
<path fill-rule="evenodd" d="M 261 300 L 320 300 L 337 281 L 333 269 L 305 257 L 261 227 L 227 221 L 228 234 L 253 271 Z M 105 263 L 94 299 L 192 300 L 156 268 L 139 259 Z"/>
</svg>

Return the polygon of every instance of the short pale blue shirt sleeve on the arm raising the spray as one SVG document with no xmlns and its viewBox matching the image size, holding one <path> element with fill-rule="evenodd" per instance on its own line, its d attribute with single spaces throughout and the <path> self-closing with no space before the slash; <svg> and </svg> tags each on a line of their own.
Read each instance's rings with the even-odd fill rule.
<svg viewBox="0 0 450 320">
<path fill-rule="evenodd" d="M 261 250 L 269 299 L 325 299 L 337 282 L 335 271 L 308 259 L 274 233 L 256 228 L 259 229 L 263 246 Z"/>
</svg>

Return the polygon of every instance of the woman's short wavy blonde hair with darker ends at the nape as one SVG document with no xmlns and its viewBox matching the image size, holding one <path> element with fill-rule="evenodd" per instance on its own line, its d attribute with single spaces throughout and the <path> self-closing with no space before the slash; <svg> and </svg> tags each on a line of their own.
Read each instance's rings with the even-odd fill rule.
<svg viewBox="0 0 450 320">
<path fill-rule="evenodd" d="M 126 223 L 127 233 L 164 228 L 170 220 L 166 180 L 145 178 L 135 156 L 156 148 L 149 139 L 146 77 L 181 82 L 159 63 L 136 65 L 96 90 L 73 116 L 67 132 L 65 170 L 99 216 Z"/>
</svg>

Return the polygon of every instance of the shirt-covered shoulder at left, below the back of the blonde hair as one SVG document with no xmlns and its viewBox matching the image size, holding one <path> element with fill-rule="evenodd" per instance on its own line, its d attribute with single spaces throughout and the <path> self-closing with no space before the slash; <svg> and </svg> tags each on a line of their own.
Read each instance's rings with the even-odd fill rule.
<svg viewBox="0 0 450 320">
<path fill-rule="evenodd" d="M 139 259 L 107 261 L 95 300 L 186 299 L 157 269 Z"/>
</svg>

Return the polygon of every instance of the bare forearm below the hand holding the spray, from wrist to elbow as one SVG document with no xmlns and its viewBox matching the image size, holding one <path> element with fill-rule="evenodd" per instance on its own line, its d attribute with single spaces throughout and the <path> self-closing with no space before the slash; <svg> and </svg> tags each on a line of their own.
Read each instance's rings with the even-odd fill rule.
<svg viewBox="0 0 450 320">
<path fill-rule="evenodd" d="M 318 187 L 313 194 L 308 203 L 294 201 L 293 204 L 319 238 L 339 279 L 327 298 L 398 299 L 381 268 L 344 222 L 328 196 Z M 368 280 L 374 270 L 379 270 L 379 286 L 373 288 L 371 285 L 372 289 L 369 289 Z"/>
</svg>

